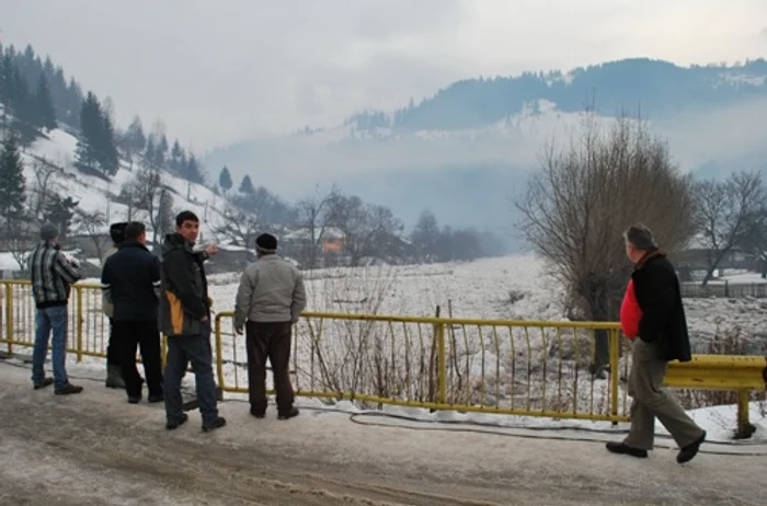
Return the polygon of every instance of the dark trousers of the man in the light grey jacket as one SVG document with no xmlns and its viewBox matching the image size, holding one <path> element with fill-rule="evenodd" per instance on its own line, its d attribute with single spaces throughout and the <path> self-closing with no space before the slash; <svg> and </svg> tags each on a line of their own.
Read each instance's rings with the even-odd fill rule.
<svg viewBox="0 0 767 506">
<path fill-rule="evenodd" d="M 266 411 L 266 358 L 272 364 L 274 389 L 277 392 L 277 411 L 287 413 L 293 409 L 293 384 L 290 384 L 290 322 L 248 322 L 245 324 L 248 346 L 248 389 L 250 407 L 255 413 Z"/>
</svg>

